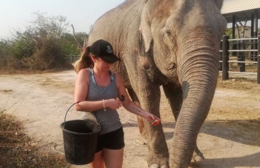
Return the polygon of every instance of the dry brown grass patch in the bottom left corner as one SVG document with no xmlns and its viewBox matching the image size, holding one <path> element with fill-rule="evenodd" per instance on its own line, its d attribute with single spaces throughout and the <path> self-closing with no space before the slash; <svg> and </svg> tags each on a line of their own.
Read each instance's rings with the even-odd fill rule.
<svg viewBox="0 0 260 168">
<path fill-rule="evenodd" d="M 0 168 L 70 167 L 63 155 L 39 153 L 38 147 L 24 132 L 22 122 L 4 113 L 0 107 Z"/>
</svg>

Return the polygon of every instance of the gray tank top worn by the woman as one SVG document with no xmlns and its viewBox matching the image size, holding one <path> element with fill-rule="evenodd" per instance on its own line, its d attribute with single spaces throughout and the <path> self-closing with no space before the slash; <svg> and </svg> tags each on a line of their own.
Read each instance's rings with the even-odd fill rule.
<svg viewBox="0 0 260 168">
<path fill-rule="evenodd" d="M 100 87 L 96 84 L 93 73 L 91 73 L 93 69 L 86 70 L 89 72 L 89 91 L 86 97 L 87 101 L 117 99 L 117 83 L 115 73 L 110 72 L 110 85 Z M 106 108 L 106 111 L 104 111 L 104 109 L 102 108 L 91 112 L 91 114 L 96 117 L 98 123 L 101 126 L 100 134 L 106 134 L 122 127 L 122 123 L 120 122 L 117 110 Z"/>
</svg>

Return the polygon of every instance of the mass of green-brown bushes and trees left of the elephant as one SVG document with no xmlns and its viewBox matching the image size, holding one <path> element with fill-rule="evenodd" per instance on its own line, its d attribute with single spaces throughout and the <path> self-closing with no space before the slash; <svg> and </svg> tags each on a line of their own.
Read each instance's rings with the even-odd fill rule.
<svg viewBox="0 0 260 168">
<path fill-rule="evenodd" d="M 0 68 L 46 70 L 67 66 L 66 55 L 79 55 L 77 42 L 67 27 L 63 16 L 47 16 L 34 13 L 35 18 L 16 31 L 11 39 L 0 41 Z M 84 44 L 88 34 L 76 33 L 77 40 Z"/>
</svg>

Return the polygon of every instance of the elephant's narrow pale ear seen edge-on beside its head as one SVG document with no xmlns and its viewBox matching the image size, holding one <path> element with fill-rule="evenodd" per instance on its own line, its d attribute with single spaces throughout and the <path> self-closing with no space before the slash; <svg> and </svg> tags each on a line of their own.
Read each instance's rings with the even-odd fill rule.
<svg viewBox="0 0 260 168">
<path fill-rule="evenodd" d="M 143 36 L 143 41 L 145 43 L 145 52 L 148 52 L 148 50 L 150 49 L 150 43 L 152 41 L 152 32 L 151 32 L 150 24 L 151 24 L 150 12 L 147 6 L 145 6 L 141 14 L 141 24 L 139 28 Z"/>
</svg>

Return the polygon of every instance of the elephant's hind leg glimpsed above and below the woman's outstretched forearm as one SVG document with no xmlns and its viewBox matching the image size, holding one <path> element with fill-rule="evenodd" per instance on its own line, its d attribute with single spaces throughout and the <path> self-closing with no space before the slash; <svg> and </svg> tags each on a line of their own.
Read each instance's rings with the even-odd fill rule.
<svg viewBox="0 0 260 168">
<path fill-rule="evenodd" d="M 140 102 L 138 100 L 138 97 L 136 96 L 136 92 L 134 92 L 133 89 L 127 89 L 129 96 L 131 97 L 132 101 L 135 102 L 138 106 L 140 105 Z M 140 116 L 137 116 L 137 121 L 138 121 L 138 128 L 139 128 L 139 132 L 141 134 L 141 137 L 143 137 L 144 139 L 147 139 L 147 134 L 145 132 L 145 124 L 143 122 L 143 118 L 141 118 Z"/>
</svg>

